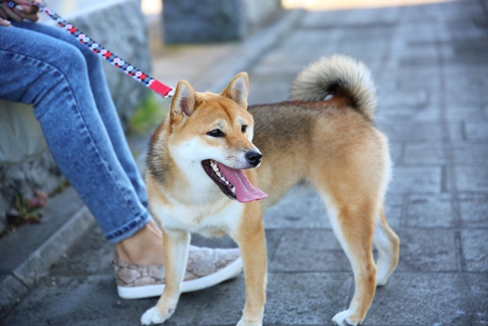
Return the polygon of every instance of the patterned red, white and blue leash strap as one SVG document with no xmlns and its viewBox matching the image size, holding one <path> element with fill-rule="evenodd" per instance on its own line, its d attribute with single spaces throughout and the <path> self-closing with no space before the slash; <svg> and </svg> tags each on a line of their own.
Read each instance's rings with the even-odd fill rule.
<svg viewBox="0 0 488 326">
<path fill-rule="evenodd" d="M 146 87 L 149 87 L 156 93 L 160 94 L 163 98 L 168 98 L 174 95 L 174 88 L 169 87 L 159 80 L 151 77 L 144 71 L 132 66 L 127 61 L 123 60 L 121 57 L 118 57 L 113 52 L 109 51 L 107 48 L 103 47 L 100 43 L 97 43 L 93 40 L 90 36 L 84 34 L 82 31 L 77 29 L 77 27 L 73 26 L 66 20 L 64 20 L 61 16 L 59 16 L 54 10 L 45 6 L 44 3 L 33 2 L 33 6 L 38 6 L 40 11 L 45 12 L 49 17 L 54 20 L 59 27 L 63 27 L 68 33 L 73 35 L 80 43 L 89 47 L 89 49 L 98 54 L 100 57 L 104 58 L 105 60 L 109 61 L 112 66 L 119 68 L 125 74 L 129 75 L 130 77 L 134 78 L 138 82 L 141 82 Z M 8 1 L 8 6 L 16 6 L 14 1 Z"/>
</svg>

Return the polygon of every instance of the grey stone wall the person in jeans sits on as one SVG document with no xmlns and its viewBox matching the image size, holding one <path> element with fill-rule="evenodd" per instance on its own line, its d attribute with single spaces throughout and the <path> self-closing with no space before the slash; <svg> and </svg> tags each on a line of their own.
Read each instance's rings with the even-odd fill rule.
<svg viewBox="0 0 488 326">
<path fill-rule="evenodd" d="M 54 4 L 51 6 L 56 10 Z M 95 6 L 64 17 L 132 65 L 143 71 L 151 71 L 147 27 L 139 0 L 98 1 Z M 43 23 L 52 24 L 46 19 L 43 19 Z M 112 98 L 126 126 L 128 119 L 148 94 L 148 89 L 107 63 L 104 69 Z M 0 121 L 4 128 L 9 128 L 8 133 L 13 135 L 10 137 L 3 133 L 0 150 L 7 153 L 14 151 L 0 158 L 1 231 L 6 226 L 6 212 L 13 205 L 16 194 L 31 198 L 36 189 L 50 193 L 63 177 L 45 146 L 32 108 L 0 101 Z M 15 131 L 12 130 L 13 125 L 16 126 Z M 26 135 L 22 131 L 29 133 Z M 22 135 L 19 136 L 19 133 Z"/>
</svg>

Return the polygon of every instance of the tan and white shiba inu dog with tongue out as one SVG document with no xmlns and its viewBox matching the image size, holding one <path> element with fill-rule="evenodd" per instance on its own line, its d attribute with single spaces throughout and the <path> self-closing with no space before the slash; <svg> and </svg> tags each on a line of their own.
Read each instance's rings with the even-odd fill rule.
<svg viewBox="0 0 488 326">
<path fill-rule="evenodd" d="M 333 322 L 358 325 L 376 286 L 386 283 L 399 259 L 399 238 L 383 209 L 390 155 L 386 136 L 374 126 L 369 70 L 335 55 L 298 75 L 291 101 L 247 108 L 247 91 L 246 73 L 236 75 L 221 94 L 199 93 L 178 82 L 168 117 L 151 138 L 146 182 L 151 212 L 164 232 L 167 275 L 162 296 L 141 322 L 163 323 L 176 309 L 190 232 L 199 232 L 227 233 L 236 241 L 246 295 L 238 325 L 261 325 L 266 301 L 261 212 L 306 182 L 323 198 L 353 269 L 353 299 Z"/>
</svg>

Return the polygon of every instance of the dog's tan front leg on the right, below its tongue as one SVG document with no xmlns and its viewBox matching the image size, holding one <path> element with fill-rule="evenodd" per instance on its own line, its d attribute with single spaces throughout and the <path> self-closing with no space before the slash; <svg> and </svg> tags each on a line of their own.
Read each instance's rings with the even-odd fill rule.
<svg viewBox="0 0 488 326">
<path fill-rule="evenodd" d="M 266 239 L 261 214 L 245 221 L 236 242 L 241 249 L 245 277 L 245 306 L 238 326 L 263 324 L 266 303 Z"/>
</svg>

